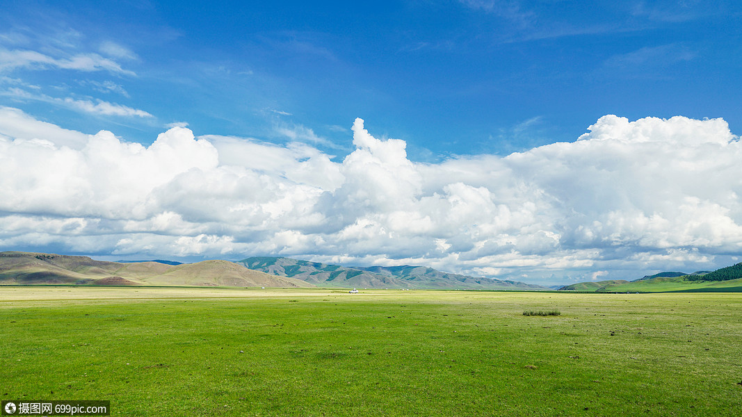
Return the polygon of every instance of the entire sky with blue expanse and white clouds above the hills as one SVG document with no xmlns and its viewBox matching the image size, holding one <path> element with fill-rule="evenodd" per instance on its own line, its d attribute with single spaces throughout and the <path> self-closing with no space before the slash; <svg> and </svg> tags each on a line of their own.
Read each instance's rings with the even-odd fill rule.
<svg viewBox="0 0 742 417">
<path fill-rule="evenodd" d="M 0 250 L 740 262 L 736 1 L 4 1 Z"/>
</svg>

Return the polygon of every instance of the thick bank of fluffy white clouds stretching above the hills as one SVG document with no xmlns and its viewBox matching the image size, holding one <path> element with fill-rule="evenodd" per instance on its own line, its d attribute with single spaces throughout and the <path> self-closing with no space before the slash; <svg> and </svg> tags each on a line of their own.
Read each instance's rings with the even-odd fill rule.
<svg viewBox="0 0 742 417">
<path fill-rule="evenodd" d="M 741 252 L 742 148 L 726 122 L 603 116 L 588 131 L 430 164 L 356 119 L 340 161 L 187 128 L 143 146 L 0 108 L 0 248 L 284 255 L 533 282 Z"/>
</svg>

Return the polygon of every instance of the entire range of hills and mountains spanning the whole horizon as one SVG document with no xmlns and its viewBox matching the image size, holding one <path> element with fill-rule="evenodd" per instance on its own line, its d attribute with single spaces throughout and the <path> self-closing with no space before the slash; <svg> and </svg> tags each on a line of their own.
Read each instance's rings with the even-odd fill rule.
<svg viewBox="0 0 742 417">
<path fill-rule="evenodd" d="M 742 292 L 742 263 L 716 271 L 660 272 L 636 280 L 545 287 L 474 278 L 425 266 L 339 266 L 287 257 L 180 263 L 107 262 L 85 256 L 0 252 L 0 285 L 241 286 L 358 289 L 483 289 L 579 292 Z"/>
</svg>

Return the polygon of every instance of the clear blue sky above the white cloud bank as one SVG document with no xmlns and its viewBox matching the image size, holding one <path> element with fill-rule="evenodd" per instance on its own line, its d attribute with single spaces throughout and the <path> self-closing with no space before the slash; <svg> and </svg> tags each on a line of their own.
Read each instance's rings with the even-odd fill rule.
<svg viewBox="0 0 742 417">
<path fill-rule="evenodd" d="M 287 125 L 343 154 L 363 117 L 407 141 L 410 157 L 436 160 L 572 141 L 605 114 L 723 117 L 742 130 L 733 1 L 5 3 L 8 50 L 94 53 L 121 68 L 32 65 L 9 76 L 40 88 L 32 93 L 152 116 L 3 101 L 88 133 L 119 124 L 116 134 L 138 142 L 171 122 L 281 142 L 276 125 Z"/>
</svg>

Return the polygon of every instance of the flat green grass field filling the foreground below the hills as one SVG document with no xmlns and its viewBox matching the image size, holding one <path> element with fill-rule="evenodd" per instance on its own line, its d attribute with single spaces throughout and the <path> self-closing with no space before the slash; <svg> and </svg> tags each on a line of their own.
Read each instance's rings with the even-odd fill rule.
<svg viewBox="0 0 742 417">
<path fill-rule="evenodd" d="M 742 410 L 732 293 L 4 287 L 0 324 L 0 398 L 112 416 Z"/>
</svg>

